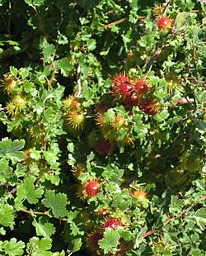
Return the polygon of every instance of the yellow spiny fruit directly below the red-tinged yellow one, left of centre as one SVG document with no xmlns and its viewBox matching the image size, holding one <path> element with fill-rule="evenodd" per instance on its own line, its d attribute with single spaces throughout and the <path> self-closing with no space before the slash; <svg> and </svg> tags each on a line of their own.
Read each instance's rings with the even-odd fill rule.
<svg viewBox="0 0 206 256">
<path fill-rule="evenodd" d="M 82 128 L 85 121 L 85 115 L 83 112 L 71 111 L 68 113 L 67 124 L 72 126 L 73 129 Z"/>
</svg>

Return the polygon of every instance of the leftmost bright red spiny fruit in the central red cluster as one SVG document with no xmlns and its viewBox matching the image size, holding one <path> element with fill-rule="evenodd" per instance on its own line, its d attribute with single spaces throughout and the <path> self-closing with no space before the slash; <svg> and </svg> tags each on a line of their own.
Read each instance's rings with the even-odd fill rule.
<svg viewBox="0 0 206 256">
<path fill-rule="evenodd" d="M 113 80 L 114 88 L 113 92 L 116 96 L 126 99 L 132 94 L 132 83 L 129 81 L 129 77 L 124 74 L 116 75 Z"/>
</svg>

